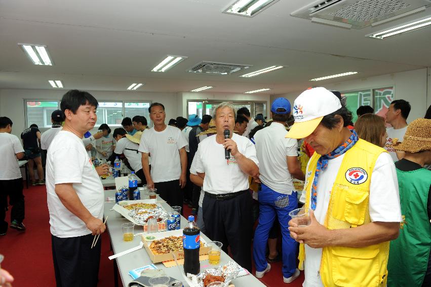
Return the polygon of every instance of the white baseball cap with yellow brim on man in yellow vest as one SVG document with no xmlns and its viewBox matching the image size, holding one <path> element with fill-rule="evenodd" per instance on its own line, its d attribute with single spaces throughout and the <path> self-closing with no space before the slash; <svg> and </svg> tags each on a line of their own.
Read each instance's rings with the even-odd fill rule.
<svg viewBox="0 0 431 287">
<path fill-rule="evenodd" d="M 304 138 L 310 135 L 323 117 L 341 109 L 341 102 L 325 88 L 312 88 L 302 92 L 293 103 L 295 123 L 286 137 Z"/>
</svg>

